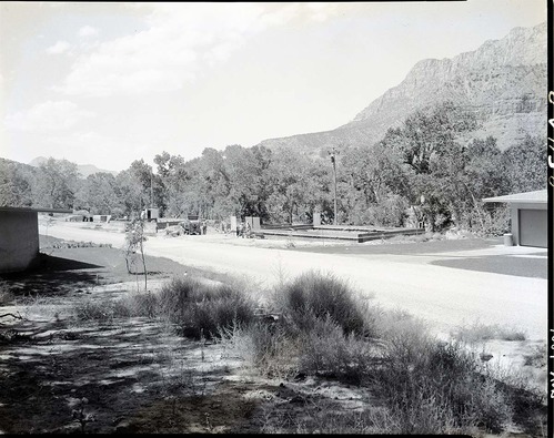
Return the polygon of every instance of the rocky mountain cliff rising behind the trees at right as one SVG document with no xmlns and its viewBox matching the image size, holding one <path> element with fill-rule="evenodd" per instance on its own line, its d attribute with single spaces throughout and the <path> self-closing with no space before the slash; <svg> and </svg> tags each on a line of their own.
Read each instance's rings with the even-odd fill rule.
<svg viewBox="0 0 554 438">
<path fill-rule="evenodd" d="M 332 146 L 372 144 L 415 110 L 446 100 L 477 114 L 472 137 L 493 135 L 502 150 L 525 134 L 546 135 L 546 22 L 515 28 L 501 40 L 452 59 L 417 62 L 397 86 L 335 130 L 264 140 L 273 149 L 293 146 L 321 153 Z"/>
</svg>

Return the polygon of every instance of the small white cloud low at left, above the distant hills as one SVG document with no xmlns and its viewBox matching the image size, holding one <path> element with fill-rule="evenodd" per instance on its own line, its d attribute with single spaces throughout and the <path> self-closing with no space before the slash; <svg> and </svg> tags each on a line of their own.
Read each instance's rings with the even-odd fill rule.
<svg viewBox="0 0 554 438">
<path fill-rule="evenodd" d="M 38 103 L 28 111 L 6 116 L 6 125 L 18 131 L 62 131 L 72 128 L 94 113 L 80 110 L 69 101 Z"/>
</svg>

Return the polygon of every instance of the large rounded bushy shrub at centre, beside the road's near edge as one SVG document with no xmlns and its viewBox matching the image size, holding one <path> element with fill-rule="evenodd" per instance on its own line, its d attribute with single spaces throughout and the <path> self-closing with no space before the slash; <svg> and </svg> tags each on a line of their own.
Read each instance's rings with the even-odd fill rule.
<svg viewBox="0 0 554 438">
<path fill-rule="evenodd" d="M 262 375 L 301 370 L 360 383 L 379 360 L 372 339 L 376 314 L 344 282 L 309 272 L 281 283 L 272 298 L 279 319 L 260 319 L 223 336 Z"/>
</svg>

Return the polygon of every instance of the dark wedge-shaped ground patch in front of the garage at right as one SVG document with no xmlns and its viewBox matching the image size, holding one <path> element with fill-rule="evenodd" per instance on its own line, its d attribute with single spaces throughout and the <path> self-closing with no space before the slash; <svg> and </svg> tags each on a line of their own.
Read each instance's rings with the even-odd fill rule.
<svg viewBox="0 0 554 438">
<path fill-rule="evenodd" d="M 545 255 L 537 253 L 536 255 Z M 432 265 L 456 269 L 490 272 L 517 277 L 547 278 L 547 258 L 516 257 L 513 255 L 487 255 L 481 257 L 445 258 L 431 262 Z"/>
</svg>

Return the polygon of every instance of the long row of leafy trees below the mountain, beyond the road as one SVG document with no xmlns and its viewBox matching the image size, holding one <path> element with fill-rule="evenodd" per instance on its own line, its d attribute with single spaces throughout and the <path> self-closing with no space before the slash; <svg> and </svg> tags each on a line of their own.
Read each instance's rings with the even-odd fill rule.
<svg viewBox="0 0 554 438">
<path fill-rule="evenodd" d="M 452 102 L 420 110 L 376 144 L 342 145 L 336 156 L 338 223 L 423 223 L 495 232 L 505 216 L 483 197 L 546 187 L 545 139 L 527 135 L 504 151 L 472 137 L 479 120 Z M 162 152 L 154 165 L 135 160 L 118 173 L 87 177 L 67 160 L 38 167 L 0 160 L 0 205 L 87 210 L 128 216 L 157 206 L 167 217 L 198 214 L 262 223 L 332 223 L 333 167 L 326 151 L 229 145 L 185 161 Z M 498 228 L 498 230 L 496 230 Z"/>
</svg>

